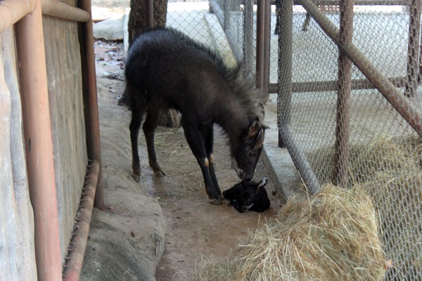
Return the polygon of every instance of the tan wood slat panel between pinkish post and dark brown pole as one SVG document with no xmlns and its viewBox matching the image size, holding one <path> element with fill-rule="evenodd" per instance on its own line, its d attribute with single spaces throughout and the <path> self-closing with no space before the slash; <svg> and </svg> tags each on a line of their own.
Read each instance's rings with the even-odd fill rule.
<svg viewBox="0 0 422 281">
<path fill-rule="evenodd" d="M 44 16 L 61 256 L 67 254 L 87 166 L 77 24 Z"/>
</svg>

